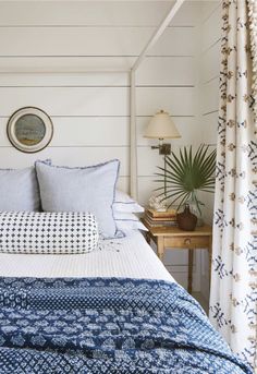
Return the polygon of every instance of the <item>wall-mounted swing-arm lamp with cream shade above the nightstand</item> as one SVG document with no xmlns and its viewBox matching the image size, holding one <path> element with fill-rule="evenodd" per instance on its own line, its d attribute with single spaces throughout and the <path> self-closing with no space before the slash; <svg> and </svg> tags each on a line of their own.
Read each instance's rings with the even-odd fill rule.
<svg viewBox="0 0 257 374">
<path fill-rule="evenodd" d="M 174 122 L 167 111 L 160 110 L 151 117 L 144 137 L 158 138 L 159 145 L 152 145 L 151 149 L 159 149 L 159 155 L 164 155 L 164 195 L 167 196 L 167 156 L 171 154 L 171 144 L 163 143 L 164 138 L 179 138 Z"/>
</svg>

